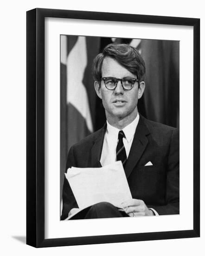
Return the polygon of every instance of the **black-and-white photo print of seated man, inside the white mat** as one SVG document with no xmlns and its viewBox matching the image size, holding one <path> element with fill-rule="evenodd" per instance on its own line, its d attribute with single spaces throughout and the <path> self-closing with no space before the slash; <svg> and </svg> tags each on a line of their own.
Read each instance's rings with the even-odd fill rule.
<svg viewBox="0 0 205 256">
<path fill-rule="evenodd" d="M 179 44 L 60 35 L 60 219 L 179 215 Z"/>
</svg>

